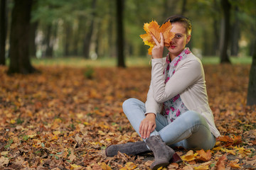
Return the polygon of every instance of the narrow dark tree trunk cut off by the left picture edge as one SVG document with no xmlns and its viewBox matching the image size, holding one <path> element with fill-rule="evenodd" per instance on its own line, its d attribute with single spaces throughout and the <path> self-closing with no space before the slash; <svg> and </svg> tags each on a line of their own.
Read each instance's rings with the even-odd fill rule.
<svg viewBox="0 0 256 170">
<path fill-rule="evenodd" d="M 5 45 L 6 45 L 6 0 L 1 0 L 0 13 L 0 65 L 5 65 Z"/>
</svg>

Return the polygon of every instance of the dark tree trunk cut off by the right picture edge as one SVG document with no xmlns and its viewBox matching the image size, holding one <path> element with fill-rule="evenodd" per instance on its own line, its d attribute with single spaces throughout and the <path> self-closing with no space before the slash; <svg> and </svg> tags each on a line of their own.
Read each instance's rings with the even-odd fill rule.
<svg viewBox="0 0 256 170">
<path fill-rule="evenodd" d="M 255 49 L 256 49 L 256 40 L 255 40 Z M 256 50 L 252 55 L 252 66 L 250 68 L 250 78 L 248 84 L 248 93 L 247 93 L 247 106 L 252 106 L 256 104 Z"/>
</svg>

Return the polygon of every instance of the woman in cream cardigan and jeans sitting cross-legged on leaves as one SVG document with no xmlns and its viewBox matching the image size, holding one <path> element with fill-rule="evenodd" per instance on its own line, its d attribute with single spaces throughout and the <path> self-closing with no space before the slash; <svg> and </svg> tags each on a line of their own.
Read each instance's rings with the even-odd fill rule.
<svg viewBox="0 0 256 170">
<path fill-rule="evenodd" d="M 160 42 L 152 36 L 156 45 L 146 103 L 135 98 L 123 103 L 125 115 L 143 141 L 106 149 L 110 157 L 118 151 L 139 154 L 151 150 L 155 157 L 151 169 L 169 164 L 174 155 L 171 147 L 212 149 L 220 135 L 208 105 L 203 66 L 186 47 L 191 40 L 191 22 L 183 16 L 171 16 L 165 22 L 171 22 L 175 37 L 163 58 L 163 35 Z"/>
</svg>

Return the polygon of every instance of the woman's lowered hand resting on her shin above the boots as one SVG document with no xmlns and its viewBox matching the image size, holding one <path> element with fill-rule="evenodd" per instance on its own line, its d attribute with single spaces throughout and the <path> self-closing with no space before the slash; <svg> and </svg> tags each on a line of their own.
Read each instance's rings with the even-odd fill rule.
<svg viewBox="0 0 256 170">
<path fill-rule="evenodd" d="M 156 115 L 154 113 L 147 113 L 146 118 L 142 120 L 139 125 L 139 134 L 142 139 L 146 139 L 150 136 L 150 133 L 156 128 Z"/>
</svg>

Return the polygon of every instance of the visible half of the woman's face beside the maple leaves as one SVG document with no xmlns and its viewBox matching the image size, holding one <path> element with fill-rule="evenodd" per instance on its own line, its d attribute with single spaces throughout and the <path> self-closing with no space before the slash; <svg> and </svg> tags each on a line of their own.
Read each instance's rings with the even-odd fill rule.
<svg viewBox="0 0 256 170">
<path fill-rule="evenodd" d="M 167 49 L 172 57 L 176 57 L 183 51 L 186 44 L 191 39 L 191 35 L 186 35 L 186 28 L 182 23 L 172 23 L 171 26 L 171 32 L 174 33 L 175 36 L 171 40 L 171 45 L 167 47 Z"/>
</svg>

